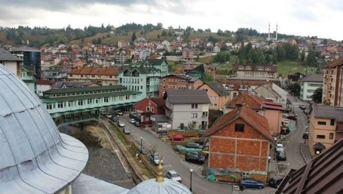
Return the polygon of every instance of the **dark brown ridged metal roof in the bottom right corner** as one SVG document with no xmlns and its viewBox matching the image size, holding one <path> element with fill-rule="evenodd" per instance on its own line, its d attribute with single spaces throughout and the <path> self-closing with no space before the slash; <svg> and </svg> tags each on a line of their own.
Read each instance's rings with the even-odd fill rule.
<svg viewBox="0 0 343 194">
<path fill-rule="evenodd" d="M 342 193 L 343 139 L 313 158 L 304 167 L 291 169 L 276 194 Z"/>
</svg>

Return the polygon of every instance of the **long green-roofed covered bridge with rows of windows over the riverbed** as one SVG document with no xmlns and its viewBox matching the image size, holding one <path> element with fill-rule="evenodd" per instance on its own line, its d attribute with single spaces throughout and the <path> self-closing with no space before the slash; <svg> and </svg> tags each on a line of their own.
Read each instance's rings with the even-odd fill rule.
<svg viewBox="0 0 343 194">
<path fill-rule="evenodd" d="M 43 92 L 42 103 L 57 127 L 100 119 L 100 110 L 129 108 L 141 99 L 140 91 L 125 86 L 91 86 L 84 88 L 50 89 Z"/>
</svg>

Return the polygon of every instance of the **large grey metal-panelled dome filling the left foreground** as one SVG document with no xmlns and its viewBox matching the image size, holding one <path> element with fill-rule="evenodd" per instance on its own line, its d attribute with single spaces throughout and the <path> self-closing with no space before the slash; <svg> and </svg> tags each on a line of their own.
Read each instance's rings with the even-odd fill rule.
<svg viewBox="0 0 343 194">
<path fill-rule="evenodd" d="M 0 64 L 0 193 L 56 193 L 84 169 L 88 150 L 60 134 L 39 98 Z"/>
</svg>

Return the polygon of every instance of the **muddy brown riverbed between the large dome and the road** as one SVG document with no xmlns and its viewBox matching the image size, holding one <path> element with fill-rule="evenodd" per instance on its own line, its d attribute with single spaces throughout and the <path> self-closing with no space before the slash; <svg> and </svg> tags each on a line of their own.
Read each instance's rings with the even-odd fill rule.
<svg viewBox="0 0 343 194">
<path fill-rule="evenodd" d="M 96 124 L 87 124 L 82 128 L 70 126 L 61 131 L 79 139 L 88 148 L 89 160 L 84 169 L 84 174 L 132 188 L 134 182 L 122 167 L 103 129 Z"/>
</svg>

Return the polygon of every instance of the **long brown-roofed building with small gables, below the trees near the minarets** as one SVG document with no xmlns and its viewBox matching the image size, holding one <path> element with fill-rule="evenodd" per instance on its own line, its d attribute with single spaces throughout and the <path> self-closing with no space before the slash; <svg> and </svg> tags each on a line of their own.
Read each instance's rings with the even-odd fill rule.
<svg viewBox="0 0 343 194">
<path fill-rule="evenodd" d="M 274 65 L 235 64 L 232 67 L 232 75 L 241 77 L 269 77 L 275 79 L 278 77 L 278 70 Z"/>
</svg>

